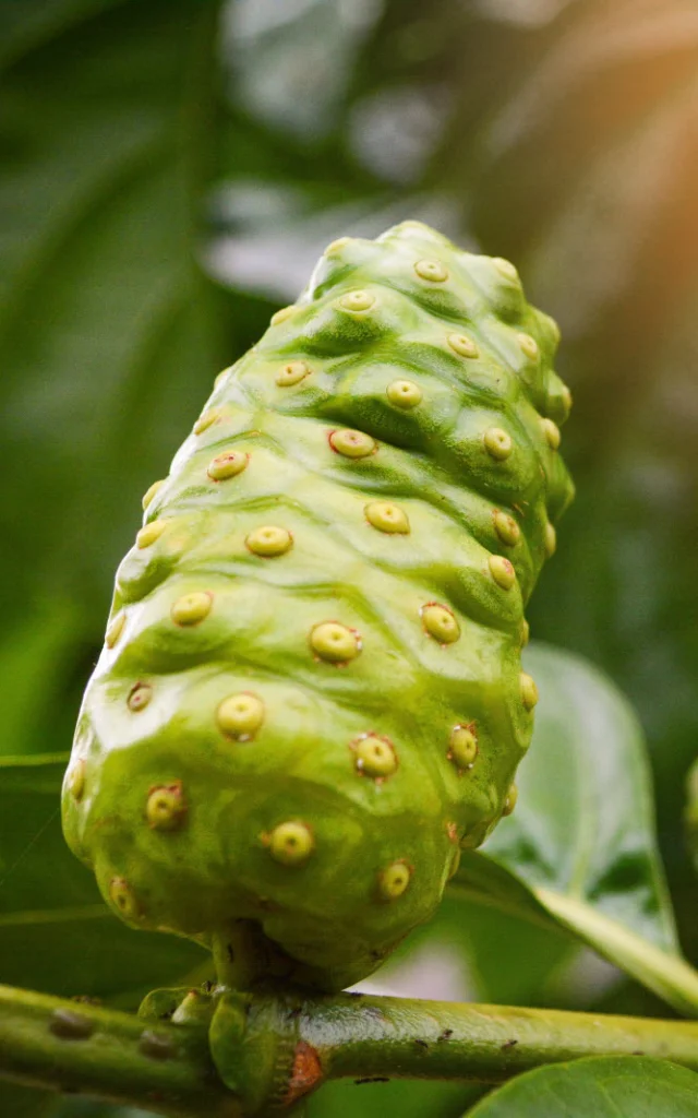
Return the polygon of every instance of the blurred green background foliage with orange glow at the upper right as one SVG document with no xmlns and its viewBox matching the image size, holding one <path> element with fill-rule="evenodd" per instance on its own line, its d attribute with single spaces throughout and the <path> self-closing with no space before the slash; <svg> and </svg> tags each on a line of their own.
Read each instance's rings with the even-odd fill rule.
<svg viewBox="0 0 698 1118">
<path fill-rule="evenodd" d="M 577 500 L 532 629 L 637 707 L 695 961 L 694 0 L 0 0 L 0 752 L 69 748 L 141 494 L 216 372 L 331 239 L 420 218 L 515 260 L 562 326 Z M 448 906 L 379 978 L 667 1012 L 549 936 Z M 468 1098 L 391 1090 L 403 1116 Z M 355 1114 L 333 1091 L 315 1118 Z M 362 1091 L 362 1112 L 385 1108 Z"/>
</svg>

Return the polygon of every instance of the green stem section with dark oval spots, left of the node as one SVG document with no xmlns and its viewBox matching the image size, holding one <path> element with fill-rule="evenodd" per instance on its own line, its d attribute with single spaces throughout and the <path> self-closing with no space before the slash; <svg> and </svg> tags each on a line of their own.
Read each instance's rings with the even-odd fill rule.
<svg viewBox="0 0 698 1118">
<path fill-rule="evenodd" d="M 240 1118 L 205 1030 L 0 986 L 0 1077 L 171 1118 Z"/>
</svg>

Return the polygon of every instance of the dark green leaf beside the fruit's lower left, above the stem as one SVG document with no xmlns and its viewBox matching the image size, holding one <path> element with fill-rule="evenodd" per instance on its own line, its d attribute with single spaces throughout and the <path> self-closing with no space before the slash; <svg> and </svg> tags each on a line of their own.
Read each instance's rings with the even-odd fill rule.
<svg viewBox="0 0 698 1118">
<path fill-rule="evenodd" d="M 202 980 L 200 948 L 126 928 L 68 851 L 59 808 L 66 760 L 0 759 L 0 983 L 134 1003 L 192 972 Z"/>
</svg>

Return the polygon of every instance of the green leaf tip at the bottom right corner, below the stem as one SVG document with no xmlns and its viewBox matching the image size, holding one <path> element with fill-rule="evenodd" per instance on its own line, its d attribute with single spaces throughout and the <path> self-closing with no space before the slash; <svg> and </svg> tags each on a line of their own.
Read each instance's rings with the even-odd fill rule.
<svg viewBox="0 0 698 1118">
<path fill-rule="evenodd" d="M 468 1118 L 696 1118 L 698 1076 L 666 1060 L 592 1057 L 518 1076 Z"/>
</svg>

